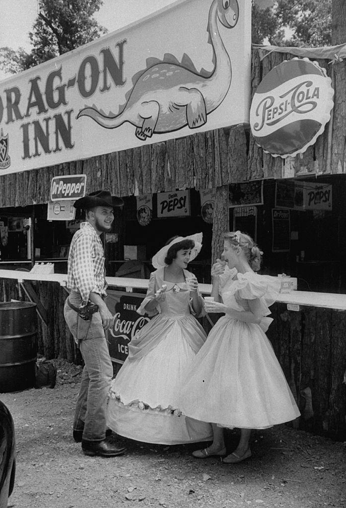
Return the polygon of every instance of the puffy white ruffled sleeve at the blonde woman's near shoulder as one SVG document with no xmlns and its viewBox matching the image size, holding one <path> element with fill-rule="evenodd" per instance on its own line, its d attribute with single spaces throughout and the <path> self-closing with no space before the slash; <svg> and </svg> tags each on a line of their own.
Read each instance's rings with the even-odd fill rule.
<svg viewBox="0 0 346 508">
<path fill-rule="evenodd" d="M 258 299 L 263 316 L 270 314 L 269 307 L 276 301 L 280 291 L 280 281 L 270 275 L 258 275 L 253 272 L 238 273 L 236 297 L 243 300 Z"/>
</svg>

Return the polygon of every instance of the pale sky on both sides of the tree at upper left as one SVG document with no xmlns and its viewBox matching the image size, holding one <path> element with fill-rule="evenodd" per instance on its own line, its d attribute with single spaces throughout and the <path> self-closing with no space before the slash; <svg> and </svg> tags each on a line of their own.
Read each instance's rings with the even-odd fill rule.
<svg viewBox="0 0 346 508">
<path fill-rule="evenodd" d="M 173 3 L 175 0 L 104 0 L 97 21 L 108 31 L 126 26 L 132 21 Z M 23 47 L 30 51 L 28 33 L 38 13 L 37 0 L 0 0 L 0 47 Z M 0 80 L 8 77 L 0 70 Z"/>
</svg>

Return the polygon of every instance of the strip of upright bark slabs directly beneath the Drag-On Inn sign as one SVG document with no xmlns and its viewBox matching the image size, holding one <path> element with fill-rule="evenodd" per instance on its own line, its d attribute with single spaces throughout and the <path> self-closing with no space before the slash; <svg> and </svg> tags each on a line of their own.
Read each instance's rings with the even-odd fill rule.
<svg viewBox="0 0 346 508">
<path fill-rule="evenodd" d="M 194 134 L 70 163 L 0 176 L 0 208 L 47 203 L 54 176 L 84 173 L 86 192 L 116 196 L 213 188 L 246 177 L 243 126 Z"/>
</svg>

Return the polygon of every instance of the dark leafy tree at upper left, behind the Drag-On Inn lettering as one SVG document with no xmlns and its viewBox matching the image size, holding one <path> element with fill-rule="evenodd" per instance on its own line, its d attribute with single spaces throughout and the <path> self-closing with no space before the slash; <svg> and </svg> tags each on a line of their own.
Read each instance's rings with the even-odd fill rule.
<svg viewBox="0 0 346 508">
<path fill-rule="evenodd" d="M 103 0 L 38 0 L 38 16 L 29 32 L 32 51 L 0 48 L 0 68 L 23 71 L 106 34 L 92 18 L 102 4 Z"/>
</svg>

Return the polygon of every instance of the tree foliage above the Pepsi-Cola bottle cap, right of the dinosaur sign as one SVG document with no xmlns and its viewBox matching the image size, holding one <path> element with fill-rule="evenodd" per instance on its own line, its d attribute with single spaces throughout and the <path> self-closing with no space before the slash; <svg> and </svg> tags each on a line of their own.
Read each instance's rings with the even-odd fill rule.
<svg viewBox="0 0 346 508">
<path fill-rule="evenodd" d="M 276 0 L 261 9 L 253 2 L 253 43 L 318 47 L 331 44 L 333 0 Z"/>
</svg>

